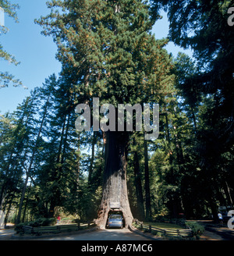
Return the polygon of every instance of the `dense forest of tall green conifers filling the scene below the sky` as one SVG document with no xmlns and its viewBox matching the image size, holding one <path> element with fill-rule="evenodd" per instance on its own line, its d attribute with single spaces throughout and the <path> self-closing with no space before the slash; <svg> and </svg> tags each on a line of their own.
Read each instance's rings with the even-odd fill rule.
<svg viewBox="0 0 234 256">
<path fill-rule="evenodd" d="M 219 205 L 234 207 L 231 6 L 218 0 L 48 2 L 51 13 L 35 22 L 57 44 L 62 70 L 15 112 L 0 116 L 5 222 L 58 214 L 96 219 L 117 172 L 140 220 L 179 213 L 216 218 Z M 169 34 L 156 40 L 151 29 L 162 9 Z M 193 59 L 169 55 L 168 41 L 191 48 Z M 76 105 L 92 106 L 94 97 L 115 106 L 159 104 L 158 139 L 144 140 L 144 131 L 77 132 Z"/>
</svg>

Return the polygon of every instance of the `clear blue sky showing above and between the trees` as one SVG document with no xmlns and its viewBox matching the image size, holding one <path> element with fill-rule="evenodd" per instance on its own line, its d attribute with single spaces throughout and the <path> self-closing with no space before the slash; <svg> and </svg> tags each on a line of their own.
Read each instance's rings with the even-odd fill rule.
<svg viewBox="0 0 234 256">
<path fill-rule="evenodd" d="M 30 94 L 34 87 L 40 87 L 44 80 L 52 73 L 58 75 L 61 64 L 55 59 L 56 45 L 51 37 L 41 35 L 41 27 L 34 23 L 34 19 L 45 16 L 50 12 L 46 6 L 47 0 L 11 0 L 18 3 L 20 9 L 17 11 L 20 23 L 15 23 L 12 18 L 5 15 L 5 27 L 9 28 L 7 34 L 0 35 L 0 41 L 6 52 L 15 55 L 20 61 L 19 66 L 13 66 L 9 62 L 0 60 L 0 70 L 8 71 L 15 78 L 20 79 L 23 87 L 0 88 L 0 114 L 16 110 L 23 98 Z M 155 37 L 162 38 L 168 35 L 168 20 L 165 14 L 153 29 Z M 176 56 L 177 53 L 185 52 L 183 49 L 169 43 L 166 47 L 168 52 Z M 191 56 L 190 51 L 186 51 Z"/>
</svg>

